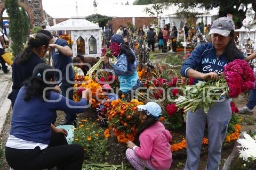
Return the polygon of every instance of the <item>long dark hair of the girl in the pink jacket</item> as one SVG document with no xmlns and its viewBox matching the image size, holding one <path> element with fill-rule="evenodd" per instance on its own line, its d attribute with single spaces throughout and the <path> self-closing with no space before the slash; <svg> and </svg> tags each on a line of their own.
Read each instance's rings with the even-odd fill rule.
<svg viewBox="0 0 256 170">
<path fill-rule="evenodd" d="M 153 126 L 158 120 L 155 117 L 151 117 L 151 116 L 147 116 L 147 118 L 143 121 L 143 123 L 139 126 L 138 131 L 136 132 L 135 135 L 135 141 L 134 143 L 137 146 L 140 146 L 139 143 L 139 135 L 146 129 L 148 129 L 149 127 Z"/>
</svg>

